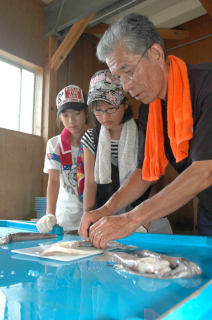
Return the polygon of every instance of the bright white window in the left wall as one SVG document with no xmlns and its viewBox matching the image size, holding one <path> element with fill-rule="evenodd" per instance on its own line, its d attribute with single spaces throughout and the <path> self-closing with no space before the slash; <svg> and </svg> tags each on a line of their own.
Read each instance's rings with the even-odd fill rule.
<svg viewBox="0 0 212 320">
<path fill-rule="evenodd" d="M 0 127 L 34 132 L 36 71 L 0 57 Z"/>
</svg>

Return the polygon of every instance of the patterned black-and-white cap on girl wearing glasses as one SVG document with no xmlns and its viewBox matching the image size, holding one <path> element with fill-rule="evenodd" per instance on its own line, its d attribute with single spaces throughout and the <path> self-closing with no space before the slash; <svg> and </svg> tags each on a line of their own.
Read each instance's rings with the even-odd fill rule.
<svg viewBox="0 0 212 320">
<path fill-rule="evenodd" d="M 119 106 L 126 97 L 120 84 L 114 83 L 110 70 L 96 72 L 90 81 L 88 104 L 96 100 L 103 100 L 114 106 Z"/>
</svg>

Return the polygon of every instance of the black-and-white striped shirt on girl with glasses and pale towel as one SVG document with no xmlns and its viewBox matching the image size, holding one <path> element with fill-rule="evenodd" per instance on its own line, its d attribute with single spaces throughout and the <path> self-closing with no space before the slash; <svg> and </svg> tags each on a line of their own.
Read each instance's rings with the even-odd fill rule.
<svg viewBox="0 0 212 320">
<path fill-rule="evenodd" d="M 88 150 L 95 155 L 95 142 L 94 142 L 94 132 L 93 129 L 89 129 L 86 131 L 84 136 L 81 139 L 81 143 L 83 146 L 88 148 Z M 119 140 L 112 140 L 111 139 L 111 155 L 114 158 L 118 158 L 118 145 Z"/>
</svg>

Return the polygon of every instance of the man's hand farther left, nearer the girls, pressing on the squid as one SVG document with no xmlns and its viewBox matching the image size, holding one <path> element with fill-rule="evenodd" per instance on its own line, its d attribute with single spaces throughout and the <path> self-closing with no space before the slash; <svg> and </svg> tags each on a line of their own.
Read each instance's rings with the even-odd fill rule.
<svg viewBox="0 0 212 320">
<path fill-rule="evenodd" d="M 103 206 L 97 210 L 85 212 L 81 218 L 80 226 L 78 233 L 84 240 L 87 240 L 90 237 L 89 228 L 90 226 L 101 219 L 103 216 L 109 216 L 110 213 L 108 209 Z"/>
</svg>

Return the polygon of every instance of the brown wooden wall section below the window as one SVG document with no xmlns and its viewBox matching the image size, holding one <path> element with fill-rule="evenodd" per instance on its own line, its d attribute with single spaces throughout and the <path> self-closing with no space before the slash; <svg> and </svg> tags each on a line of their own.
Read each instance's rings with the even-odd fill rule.
<svg viewBox="0 0 212 320">
<path fill-rule="evenodd" d="M 0 128 L 0 219 L 35 218 L 41 192 L 41 137 Z"/>
</svg>

